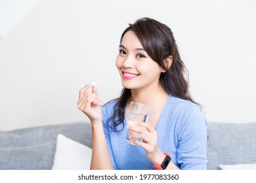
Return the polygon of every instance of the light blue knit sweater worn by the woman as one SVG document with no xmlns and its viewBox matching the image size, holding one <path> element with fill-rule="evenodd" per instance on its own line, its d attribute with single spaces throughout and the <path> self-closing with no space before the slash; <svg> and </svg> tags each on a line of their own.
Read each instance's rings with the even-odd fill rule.
<svg viewBox="0 0 256 183">
<path fill-rule="evenodd" d="M 125 141 L 126 118 L 120 132 L 112 131 L 112 121 L 107 124 L 116 102 L 102 107 L 104 133 L 114 169 L 153 169 L 152 163 L 146 159 L 145 150 Z M 207 169 L 207 120 L 194 103 L 169 95 L 156 131 L 158 147 L 171 155 L 171 161 L 179 169 Z"/>
</svg>

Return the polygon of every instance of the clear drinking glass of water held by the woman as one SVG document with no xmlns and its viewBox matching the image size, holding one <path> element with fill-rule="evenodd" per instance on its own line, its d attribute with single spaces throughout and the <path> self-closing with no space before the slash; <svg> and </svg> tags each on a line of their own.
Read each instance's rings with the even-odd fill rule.
<svg viewBox="0 0 256 183">
<path fill-rule="evenodd" d="M 135 125 L 134 122 L 148 122 L 151 112 L 152 112 L 152 107 L 146 106 L 142 103 L 131 102 L 127 125 Z M 133 145 L 134 145 L 133 140 L 142 141 L 142 139 L 129 139 L 129 137 L 135 133 L 137 132 L 127 130 L 125 141 Z"/>
</svg>

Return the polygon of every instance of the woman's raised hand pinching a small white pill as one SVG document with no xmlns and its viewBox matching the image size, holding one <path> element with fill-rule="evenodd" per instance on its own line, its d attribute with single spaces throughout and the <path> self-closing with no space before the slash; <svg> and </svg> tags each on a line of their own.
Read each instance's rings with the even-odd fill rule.
<svg viewBox="0 0 256 183">
<path fill-rule="evenodd" d="M 92 92 L 88 90 L 92 88 Z M 87 84 L 79 90 L 77 107 L 91 120 L 91 122 L 102 122 L 100 102 L 98 99 L 98 88 L 92 84 Z"/>
</svg>

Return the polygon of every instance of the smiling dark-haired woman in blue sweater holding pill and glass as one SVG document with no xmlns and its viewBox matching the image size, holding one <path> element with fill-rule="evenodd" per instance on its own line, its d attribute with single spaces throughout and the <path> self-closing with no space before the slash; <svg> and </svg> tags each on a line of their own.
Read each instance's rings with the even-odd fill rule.
<svg viewBox="0 0 256 183">
<path fill-rule="evenodd" d="M 100 107 L 95 84 L 79 91 L 78 108 L 92 125 L 91 169 L 206 169 L 207 120 L 188 92 L 171 29 L 151 18 L 130 24 L 116 67 L 119 98 Z M 131 101 L 153 107 L 148 123 L 127 126 Z M 127 129 L 142 141 L 125 142 Z"/>
</svg>

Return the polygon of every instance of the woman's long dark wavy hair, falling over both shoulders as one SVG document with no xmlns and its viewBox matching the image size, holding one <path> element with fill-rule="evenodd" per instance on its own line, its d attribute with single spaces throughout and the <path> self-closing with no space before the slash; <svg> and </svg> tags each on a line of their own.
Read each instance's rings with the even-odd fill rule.
<svg viewBox="0 0 256 183">
<path fill-rule="evenodd" d="M 188 80 L 186 80 L 186 77 L 188 78 L 188 71 L 181 60 L 171 29 L 152 18 L 141 18 L 134 24 L 129 24 L 129 27 L 121 35 L 121 41 L 127 31 L 133 31 L 150 58 L 156 61 L 161 68 L 165 69 L 166 72 L 160 75 L 160 84 L 165 92 L 174 97 L 191 101 L 201 108 L 200 104 L 192 99 L 188 91 Z M 173 58 L 173 62 L 171 67 L 168 68 L 165 60 L 169 56 Z M 117 100 L 114 106 L 114 114 L 108 119 L 108 122 L 113 122 L 113 131 L 121 131 L 124 127 L 125 106 L 129 97 L 131 97 L 131 90 L 123 88 L 120 97 L 114 99 Z"/>
</svg>

